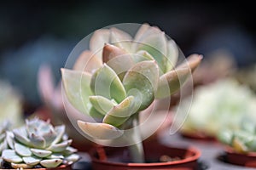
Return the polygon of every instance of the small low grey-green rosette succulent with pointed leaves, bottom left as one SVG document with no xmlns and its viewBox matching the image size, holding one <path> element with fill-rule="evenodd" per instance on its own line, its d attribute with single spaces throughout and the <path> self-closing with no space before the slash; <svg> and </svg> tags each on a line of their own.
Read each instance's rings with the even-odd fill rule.
<svg viewBox="0 0 256 170">
<path fill-rule="evenodd" d="M 6 133 L 8 148 L 3 150 L 2 158 L 13 168 L 58 167 L 79 159 L 64 125 L 53 127 L 49 121 L 33 118 Z"/>
</svg>

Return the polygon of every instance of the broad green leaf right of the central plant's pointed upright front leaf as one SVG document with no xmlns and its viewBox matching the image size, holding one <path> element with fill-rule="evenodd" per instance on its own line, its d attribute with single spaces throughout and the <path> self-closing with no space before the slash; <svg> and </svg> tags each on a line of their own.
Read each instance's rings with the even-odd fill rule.
<svg viewBox="0 0 256 170">
<path fill-rule="evenodd" d="M 138 93 L 132 94 L 135 98 L 141 99 L 141 105 L 138 111 L 142 111 L 154 100 L 159 79 L 159 68 L 154 60 L 142 61 L 134 65 L 127 71 L 123 84 L 126 92 L 137 89 Z"/>
</svg>

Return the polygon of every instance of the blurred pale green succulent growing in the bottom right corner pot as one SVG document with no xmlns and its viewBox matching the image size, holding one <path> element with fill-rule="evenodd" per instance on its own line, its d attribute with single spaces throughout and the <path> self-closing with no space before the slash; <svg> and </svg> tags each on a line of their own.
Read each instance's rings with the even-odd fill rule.
<svg viewBox="0 0 256 170">
<path fill-rule="evenodd" d="M 238 153 L 256 151 L 256 123 L 244 119 L 238 129 L 223 129 L 218 133 L 218 140 L 229 145 Z"/>
</svg>

